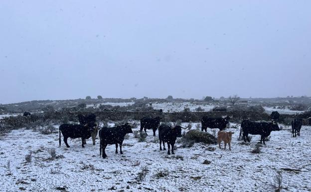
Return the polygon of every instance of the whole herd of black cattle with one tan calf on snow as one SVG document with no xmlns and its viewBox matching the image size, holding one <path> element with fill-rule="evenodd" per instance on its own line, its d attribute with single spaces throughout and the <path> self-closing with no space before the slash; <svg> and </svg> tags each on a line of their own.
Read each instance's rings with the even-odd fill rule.
<svg viewBox="0 0 311 192">
<path fill-rule="evenodd" d="M 95 145 L 95 138 L 97 133 L 100 139 L 100 155 L 103 158 L 106 158 L 107 155 L 105 153 L 105 149 L 108 144 L 116 145 L 116 154 L 118 153 L 118 144 L 120 146 L 120 153 L 122 152 L 122 144 L 124 141 L 124 137 L 126 134 L 133 133 L 132 129 L 135 126 L 135 123 L 126 123 L 121 126 L 116 127 L 103 127 L 99 130 L 98 125 L 96 122 L 96 116 L 94 114 L 84 116 L 78 115 L 78 119 L 80 124 L 62 124 L 59 127 L 59 146 L 61 146 L 61 133 L 63 135 L 64 143 L 67 147 L 69 147 L 67 143 L 68 138 L 81 138 L 82 139 L 82 147 L 86 144 L 86 139 L 92 137 L 93 145 Z M 276 122 L 279 119 L 279 113 L 273 112 L 271 114 L 272 122 L 254 122 L 250 120 L 243 120 L 241 123 L 240 129 L 240 137 L 243 136 L 244 142 L 246 139 L 250 142 L 248 138 L 248 134 L 252 135 L 260 135 L 260 143 L 265 145 L 265 138 L 268 137 L 272 131 L 280 131 L 278 123 Z M 181 126 L 171 126 L 169 124 L 161 124 L 160 125 L 160 117 L 155 118 L 143 118 L 141 119 L 141 129 L 140 132 L 143 130 L 147 132 L 147 129 L 152 129 L 154 136 L 155 131 L 158 129 L 158 138 L 160 144 L 160 150 L 162 150 L 161 144 L 163 144 L 163 150 L 165 149 L 165 143 L 167 143 L 168 151 L 167 154 L 170 155 L 170 148 L 171 154 L 174 154 L 174 144 L 177 137 L 181 137 L 181 130 L 187 129 L 188 127 L 181 127 Z M 225 128 L 229 126 L 230 117 L 225 118 L 210 118 L 210 117 L 203 117 L 201 120 L 201 131 L 207 132 L 207 128 L 216 129 L 218 128 L 220 131 L 218 132 L 217 142 L 220 147 L 221 141 L 224 141 L 225 148 L 226 144 L 229 145 L 229 150 L 231 150 L 231 138 L 233 132 L 225 132 L 223 131 Z M 311 118 L 309 118 L 311 120 Z M 302 127 L 302 119 L 294 119 L 292 121 L 292 136 L 296 137 L 297 135 L 300 136 L 300 130 Z M 190 124 L 189 124 L 190 126 Z"/>
</svg>

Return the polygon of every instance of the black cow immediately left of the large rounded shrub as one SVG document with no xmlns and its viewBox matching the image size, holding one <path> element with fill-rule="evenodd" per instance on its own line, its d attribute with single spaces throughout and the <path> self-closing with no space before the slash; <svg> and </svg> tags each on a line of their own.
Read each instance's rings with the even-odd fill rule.
<svg viewBox="0 0 311 192">
<path fill-rule="evenodd" d="M 190 124 L 189 124 L 189 126 L 190 126 Z M 170 146 L 172 148 L 171 152 L 172 152 L 172 154 L 174 154 L 175 141 L 176 141 L 177 137 L 181 137 L 181 129 L 187 129 L 187 128 L 182 128 L 181 126 L 172 127 L 172 126 L 167 125 L 167 124 L 160 125 L 159 131 L 158 131 L 159 132 L 160 151 L 162 151 L 161 142 L 163 143 L 163 149 L 166 150 L 165 149 L 165 142 L 166 142 L 167 148 L 168 148 L 167 155 L 170 155 L 170 153 L 169 153 Z"/>
</svg>

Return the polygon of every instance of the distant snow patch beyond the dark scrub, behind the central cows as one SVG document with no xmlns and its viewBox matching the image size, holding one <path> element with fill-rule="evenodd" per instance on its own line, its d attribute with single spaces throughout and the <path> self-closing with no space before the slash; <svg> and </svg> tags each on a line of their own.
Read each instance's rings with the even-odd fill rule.
<svg viewBox="0 0 311 192">
<path fill-rule="evenodd" d="M 215 105 L 197 105 L 190 102 L 167 102 L 167 103 L 153 103 L 152 106 L 154 109 L 163 109 L 164 112 L 180 112 L 183 111 L 184 108 L 189 108 L 190 111 L 195 111 L 196 108 L 201 107 L 204 111 L 212 110 Z"/>
</svg>

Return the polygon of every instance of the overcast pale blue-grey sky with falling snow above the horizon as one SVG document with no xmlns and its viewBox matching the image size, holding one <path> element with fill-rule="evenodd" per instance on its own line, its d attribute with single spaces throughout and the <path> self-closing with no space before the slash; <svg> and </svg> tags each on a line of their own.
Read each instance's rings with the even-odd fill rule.
<svg viewBox="0 0 311 192">
<path fill-rule="evenodd" d="M 2 0 L 0 103 L 311 96 L 310 7 L 310 0 Z"/>
</svg>

